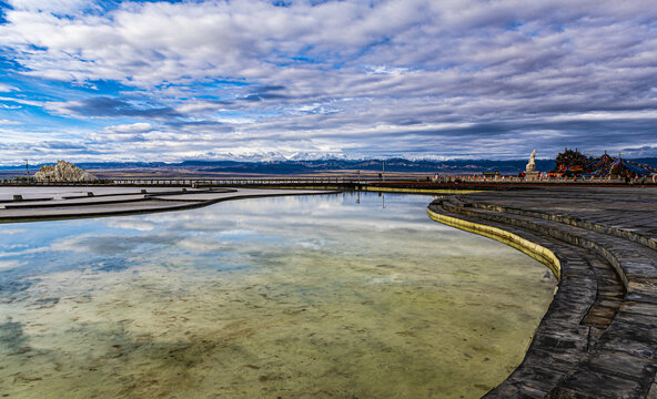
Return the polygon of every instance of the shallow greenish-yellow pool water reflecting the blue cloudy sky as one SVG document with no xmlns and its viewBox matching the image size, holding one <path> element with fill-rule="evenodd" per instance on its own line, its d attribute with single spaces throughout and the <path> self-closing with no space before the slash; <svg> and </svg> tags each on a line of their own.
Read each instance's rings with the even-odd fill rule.
<svg viewBox="0 0 657 399">
<path fill-rule="evenodd" d="M 0 397 L 478 398 L 556 280 L 432 200 L 0 225 Z"/>
</svg>

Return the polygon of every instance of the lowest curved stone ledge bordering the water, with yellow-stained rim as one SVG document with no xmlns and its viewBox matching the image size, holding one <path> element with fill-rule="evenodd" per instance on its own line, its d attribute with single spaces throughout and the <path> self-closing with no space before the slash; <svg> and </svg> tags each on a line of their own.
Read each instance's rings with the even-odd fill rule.
<svg viewBox="0 0 657 399">
<path fill-rule="evenodd" d="M 438 200 L 428 206 L 429 218 L 524 249 L 525 254 L 536 255 L 532 257 L 548 267 L 553 263 L 553 273 L 558 265 L 560 279 L 555 287 L 555 297 L 534 331 L 523 361 L 485 395 L 485 398 L 543 398 L 580 360 L 595 339 L 592 337 L 594 328 L 580 325 L 597 293 L 593 273 L 582 258 L 582 249 L 554 241 L 545 242 L 553 247 L 550 249 L 536 243 L 546 241 L 545 237 L 513 226 L 501 228 L 467 216 L 449 216 L 439 203 Z"/>
</svg>

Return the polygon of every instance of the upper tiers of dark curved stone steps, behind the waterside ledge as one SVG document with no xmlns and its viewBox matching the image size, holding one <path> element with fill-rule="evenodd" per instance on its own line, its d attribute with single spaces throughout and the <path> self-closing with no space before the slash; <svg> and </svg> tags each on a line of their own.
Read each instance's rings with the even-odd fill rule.
<svg viewBox="0 0 657 399">
<path fill-rule="evenodd" d="M 458 215 L 472 214 L 475 219 L 483 217 L 536 231 L 589 249 L 606 259 L 620 276 L 627 294 L 618 313 L 595 346 L 558 381 L 547 398 L 657 398 L 657 254 L 626 237 L 543 217 L 505 216 L 504 211 L 496 214 L 499 208 L 476 212 L 472 209 L 474 204 L 458 200 L 453 204 L 443 203 L 443 206 Z"/>
</svg>

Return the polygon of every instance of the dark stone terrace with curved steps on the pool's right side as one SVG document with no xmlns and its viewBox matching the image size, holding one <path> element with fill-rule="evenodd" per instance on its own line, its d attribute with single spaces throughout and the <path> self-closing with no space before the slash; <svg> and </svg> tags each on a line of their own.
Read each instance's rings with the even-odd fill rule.
<svg viewBox="0 0 657 399">
<path fill-rule="evenodd" d="M 487 398 L 657 399 L 657 188 L 483 192 L 429 211 L 512 232 L 562 264 L 525 360 Z"/>
</svg>

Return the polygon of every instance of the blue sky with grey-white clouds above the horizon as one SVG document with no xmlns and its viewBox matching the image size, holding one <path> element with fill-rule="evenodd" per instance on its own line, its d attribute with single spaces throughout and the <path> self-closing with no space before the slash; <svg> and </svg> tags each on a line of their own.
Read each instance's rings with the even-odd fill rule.
<svg viewBox="0 0 657 399">
<path fill-rule="evenodd" d="M 0 164 L 657 156 L 654 0 L 0 0 Z"/>
</svg>

